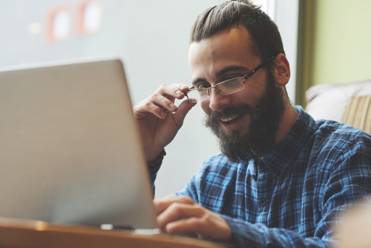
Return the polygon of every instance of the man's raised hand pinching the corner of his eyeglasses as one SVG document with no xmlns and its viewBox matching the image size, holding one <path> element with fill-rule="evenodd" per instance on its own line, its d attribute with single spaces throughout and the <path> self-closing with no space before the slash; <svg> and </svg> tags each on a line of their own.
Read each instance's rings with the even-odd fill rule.
<svg viewBox="0 0 371 248">
<path fill-rule="evenodd" d="M 197 101 L 187 99 L 174 105 L 175 99 L 183 99 L 186 85 L 161 85 L 147 99 L 133 107 L 147 161 L 153 161 L 161 150 L 169 144 L 182 127 L 183 121 L 191 107 Z"/>
</svg>

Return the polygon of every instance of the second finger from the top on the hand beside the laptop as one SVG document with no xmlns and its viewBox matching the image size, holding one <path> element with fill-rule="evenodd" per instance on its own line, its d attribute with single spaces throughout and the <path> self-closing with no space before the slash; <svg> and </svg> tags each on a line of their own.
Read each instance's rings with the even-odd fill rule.
<svg viewBox="0 0 371 248">
<path fill-rule="evenodd" d="M 158 227 L 163 229 L 167 224 L 183 218 L 200 217 L 204 213 L 200 205 L 173 203 L 157 217 Z"/>
</svg>

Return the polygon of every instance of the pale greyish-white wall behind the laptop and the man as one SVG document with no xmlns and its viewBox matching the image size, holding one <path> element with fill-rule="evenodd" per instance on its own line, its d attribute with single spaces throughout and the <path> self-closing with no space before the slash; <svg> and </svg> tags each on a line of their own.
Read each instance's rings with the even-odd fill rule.
<svg viewBox="0 0 371 248">
<path fill-rule="evenodd" d="M 90 35 L 75 30 L 81 2 L 0 0 L 0 66 L 118 56 L 125 63 L 131 101 L 135 104 L 161 83 L 191 84 L 187 64 L 191 25 L 200 12 L 222 0 L 102 0 L 102 28 Z M 64 41 L 50 43 L 45 39 L 47 17 L 61 6 L 71 13 L 71 33 Z M 37 28 L 30 32 L 31 23 L 39 23 L 39 32 Z M 156 197 L 182 189 L 202 161 L 218 152 L 218 144 L 203 126 L 203 120 L 200 107 L 194 107 L 166 147 Z"/>
</svg>

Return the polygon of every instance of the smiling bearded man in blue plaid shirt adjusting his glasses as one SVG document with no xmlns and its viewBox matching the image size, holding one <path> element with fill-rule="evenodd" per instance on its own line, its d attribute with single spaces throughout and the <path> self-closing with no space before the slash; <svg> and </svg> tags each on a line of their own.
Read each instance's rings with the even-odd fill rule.
<svg viewBox="0 0 371 248">
<path fill-rule="evenodd" d="M 152 179 L 197 102 L 222 154 L 205 161 L 177 196 L 154 200 L 160 228 L 236 247 L 331 245 L 337 214 L 370 194 L 370 136 L 314 121 L 290 104 L 277 26 L 247 1 L 200 14 L 189 66 L 191 88 L 161 85 L 134 106 Z"/>
</svg>

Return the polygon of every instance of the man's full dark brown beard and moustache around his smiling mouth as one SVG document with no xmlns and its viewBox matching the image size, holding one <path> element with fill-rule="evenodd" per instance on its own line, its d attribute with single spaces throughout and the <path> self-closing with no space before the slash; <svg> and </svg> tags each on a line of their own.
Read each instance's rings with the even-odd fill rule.
<svg viewBox="0 0 371 248">
<path fill-rule="evenodd" d="M 257 107 L 244 104 L 226 107 L 222 112 L 206 116 L 205 126 L 210 127 L 219 139 L 220 150 L 234 163 L 262 157 L 275 146 L 275 134 L 284 114 L 283 90 L 268 73 L 266 90 L 257 100 Z M 248 115 L 249 126 L 226 134 L 219 125 L 221 116 Z"/>
</svg>

